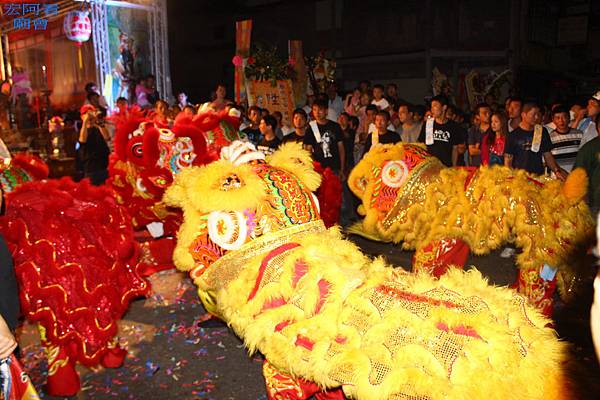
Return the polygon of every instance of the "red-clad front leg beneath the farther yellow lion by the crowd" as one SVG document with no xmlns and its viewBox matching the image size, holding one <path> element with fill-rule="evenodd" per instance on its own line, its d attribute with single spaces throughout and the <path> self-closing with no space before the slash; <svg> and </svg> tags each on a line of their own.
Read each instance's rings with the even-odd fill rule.
<svg viewBox="0 0 600 400">
<path fill-rule="evenodd" d="M 469 258 L 469 246 L 460 239 L 441 239 L 417 249 L 413 272 L 426 271 L 439 278 L 451 265 L 463 268 Z"/>
</svg>

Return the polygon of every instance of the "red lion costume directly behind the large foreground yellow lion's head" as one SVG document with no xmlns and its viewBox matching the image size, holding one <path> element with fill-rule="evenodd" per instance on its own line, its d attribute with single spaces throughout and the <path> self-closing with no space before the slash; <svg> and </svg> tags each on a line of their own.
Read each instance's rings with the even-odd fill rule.
<svg viewBox="0 0 600 400">
<path fill-rule="evenodd" d="M 221 147 L 239 138 L 239 118 L 214 112 L 178 117 L 173 127 L 157 127 L 137 107 L 113 118 L 115 152 L 109 185 L 132 216 L 141 242 L 142 273 L 172 268 L 174 236 L 181 212 L 162 202 L 165 189 L 183 168 L 218 158 Z"/>
</svg>

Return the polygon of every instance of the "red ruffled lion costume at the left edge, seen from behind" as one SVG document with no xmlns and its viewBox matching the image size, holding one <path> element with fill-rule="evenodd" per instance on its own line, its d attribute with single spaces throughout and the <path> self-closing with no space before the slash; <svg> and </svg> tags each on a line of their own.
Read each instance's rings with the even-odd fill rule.
<svg viewBox="0 0 600 400">
<path fill-rule="evenodd" d="M 137 272 L 130 217 L 112 192 L 87 180 L 32 181 L 42 177 L 38 164 L 33 159 L 0 174 L 10 192 L 0 229 L 14 260 L 22 311 L 38 324 L 46 349 L 47 393 L 72 396 L 80 388 L 76 362 L 121 365 L 126 353 L 114 340 L 117 320 L 148 284 Z M 5 181 L 14 184 L 10 190 Z"/>
</svg>

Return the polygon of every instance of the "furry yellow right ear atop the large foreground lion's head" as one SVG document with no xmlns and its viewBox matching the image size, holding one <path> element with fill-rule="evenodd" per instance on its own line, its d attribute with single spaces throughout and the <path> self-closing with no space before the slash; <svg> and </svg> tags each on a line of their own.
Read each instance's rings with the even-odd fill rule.
<svg viewBox="0 0 600 400">
<path fill-rule="evenodd" d="M 310 153 L 302 148 L 300 143 L 284 143 L 279 149 L 267 157 L 274 167 L 296 175 L 308 190 L 314 192 L 321 185 L 321 175 L 313 168 Z"/>
</svg>

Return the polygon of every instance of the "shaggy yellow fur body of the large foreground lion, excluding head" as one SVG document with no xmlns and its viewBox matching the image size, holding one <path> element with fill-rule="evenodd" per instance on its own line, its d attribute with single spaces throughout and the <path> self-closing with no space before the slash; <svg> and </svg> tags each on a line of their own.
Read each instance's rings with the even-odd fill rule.
<svg viewBox="0 0 600 400">
<path fill-rule="evenodd" d="M 401 394 L 560 398 L 555 380 L 562 379 L 565 345 L 513 290 L 490 287 L 476 270 L 451 270 L 439 280 L 395 271 L 366 258 L 335 230 L 298 242 L 301 247 L 268 267 L 274 269 L 252 300 L 248 295 L 266 254 L 216 293 L 219 315 L 251 352 L 262 352 L 277 369 L 323 387 L 343 385 L 348 396 L 363 400 Z M 294 287 L 298 262 L 308 267 Z M 315 312 L 322 280 L 330 287 Z M 202 290 L 202 279 L 197 284 Z M 460 307 L 398 300 L 379 292 L 382 285 Z M 265 309 L 274 299 L 285 303 Z M 278 330 L 284 321 L 291 322 Z M 298 345 L 299 337 L 311 349 Z"/>
</svg>

